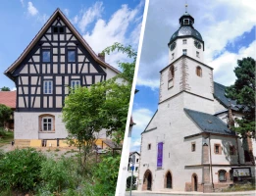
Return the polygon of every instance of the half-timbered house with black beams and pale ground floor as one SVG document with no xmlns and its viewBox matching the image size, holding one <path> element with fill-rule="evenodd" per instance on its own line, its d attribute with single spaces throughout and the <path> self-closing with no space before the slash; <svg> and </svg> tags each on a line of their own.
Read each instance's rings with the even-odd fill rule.
<svg viewBox="0 0 256 196">
<path fill-rule="evenodd" d="M 67 146 L 62 107 L 69 86 L 89 87 L 117 73 L 118 70 L 105 62 L 104 56 L 94 53 L 57 9 L 5 71 L 17 87 L 16 145 Z M 102 130 L 96 145 L 111 145 L 108 141 L 102 143 L 104 138 L 107 135 Z"/>
</svg>

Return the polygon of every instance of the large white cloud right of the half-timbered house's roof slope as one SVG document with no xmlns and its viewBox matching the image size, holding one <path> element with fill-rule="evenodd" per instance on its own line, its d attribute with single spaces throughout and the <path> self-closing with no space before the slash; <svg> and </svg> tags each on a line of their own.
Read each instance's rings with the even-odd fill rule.
<svg viewBox="0 0 256 196">
<path fill-rule="evenodd" d="M 103 19 L 98 19 L 93 29 L 91 31 L 86 31 L 85 34 L 83 34 L 83 38 L 96 53 L 101 52 L 115 42 L 124 45 L 129 44 L 136 50 L 138 38 L 135 39 L 135 35 L 139 37 L 140 23 L 142 20 L 141 16 L 139 16 L 140 9 L 140 5 L 134 9 L 129 9 L 128 5 L 123 5 L 121 9 L 111 16 L 111 19 L 108 22 Z M 136 18 L 140 18 L 140 20 L 135 21 Z M 134 25 L 134 27 L 133 30 L 128 33 L 130 25 Z M 128 61 L 127 55 L 120 52 L 114 52 L 106 57 L 106 62 L 116 68 L 117 61 Z"/>
</svg>

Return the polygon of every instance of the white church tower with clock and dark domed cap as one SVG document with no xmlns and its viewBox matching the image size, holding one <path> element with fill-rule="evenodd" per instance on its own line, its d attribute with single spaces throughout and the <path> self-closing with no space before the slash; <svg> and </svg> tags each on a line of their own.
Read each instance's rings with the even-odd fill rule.
<svg viewBox="0 0 256 196">
<path fill-rule="evenodd" d="M 182 94 L 184 108 L 213 114 L 213 69 L 204 64 L 204 41 L 185 12 L 171 36 L 169 66 L 160 73 L 159 104 Z"/>
</svg>

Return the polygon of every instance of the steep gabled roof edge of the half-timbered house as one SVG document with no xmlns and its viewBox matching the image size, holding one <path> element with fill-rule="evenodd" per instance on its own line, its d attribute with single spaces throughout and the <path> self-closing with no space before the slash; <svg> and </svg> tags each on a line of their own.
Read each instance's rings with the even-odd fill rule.
<svg viewBox="0 0 256 196">
<path fill-rule="evenodd" d="M 57 17 L 60 17 L 63 22 L 71 29 L 71 31 L 76 35 L 77 39 L 80 41 L 80 43 L 87 49 L 89 54 L 92 56 L 92 58 L 99 63 L 104 68 L 109 68 L 110 70 L 114 71 L 115 73 L 120 73 L 117 69 L 110 66 L 109 64 L 102 61 L 95 52 L 91 49 L 91 47 L 88 45 L 88 43 L 83 39 L 83 37 L 79 34 L 77 29 L 74 27 L 74 25 L 71 24 L 71 22 L 65 17 L 65 15 L 61 12 L 61 10 L 58 8 L 52 16 L 49 18 L 49 20 L 42 26 L 42 28 L 39 30 L 39 32 L 35 35 L 35 37 L 31 40 L 31 42 L 28 44 L 24 52 L 21 54 L 21 56 L 5 71 L 5 74 L 13 79 L 11 77 L 11 74 L 26 58 L 26 55 L 30 52 L 30 50 L 33 48 L 33 46 L 37 43 L 37 41 L 40 40 L 41 36 L 46 32 L 46 30 L 52 25 L 52 23 L 56 20 Z"/>
</svg>

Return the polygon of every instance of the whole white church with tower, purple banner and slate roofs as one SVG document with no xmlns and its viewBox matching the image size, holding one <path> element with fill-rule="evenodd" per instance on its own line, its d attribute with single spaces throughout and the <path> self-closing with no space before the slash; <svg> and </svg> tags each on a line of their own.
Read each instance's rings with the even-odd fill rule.
<svg viewBox="0 0 256 196">
<path fill-rule="evenodd" d="M 160 71 L 158 110 L 141 133 L 138 190 L 212 192 L 250 180 L 255 141 L 244 146 L 229 128 L 240 106 L 213 81 L 194 19 L 185 12 L 179 24 Z"/>
</svg>

